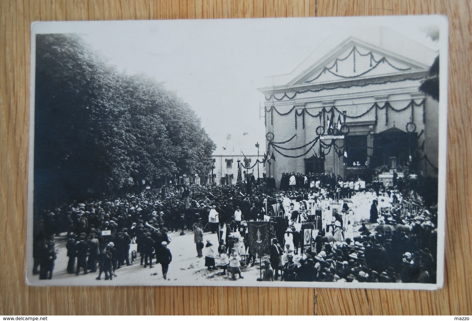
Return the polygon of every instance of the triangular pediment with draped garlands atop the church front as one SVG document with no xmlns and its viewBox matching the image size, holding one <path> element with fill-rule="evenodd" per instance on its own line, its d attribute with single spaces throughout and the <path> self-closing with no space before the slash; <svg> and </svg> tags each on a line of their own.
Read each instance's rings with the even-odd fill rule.
<svg viewBox="0 0 472 321">
<path fill-rule="evenodd" d="M 429 66 L 375 45 L 348 38 L 295 77 L 288 86 L 365 79 L 426 71 Z"/>
</svg>

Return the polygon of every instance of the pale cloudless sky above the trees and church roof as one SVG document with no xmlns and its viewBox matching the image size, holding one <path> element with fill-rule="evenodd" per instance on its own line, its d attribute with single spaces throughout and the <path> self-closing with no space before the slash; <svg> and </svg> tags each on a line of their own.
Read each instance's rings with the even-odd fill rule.
<svg viewBox="0 0 472 321">
<path fill-rule="evenodd" d="M 49 22 L 33 30 L 80 33 L 119 71 L 165 82 L 220 146 L 244 132 L 264 141 L 265 77 L 310 66 L 350 35 L 379 45 L 379 25 L 435 49 L 424 16 Z"/>
</svg>

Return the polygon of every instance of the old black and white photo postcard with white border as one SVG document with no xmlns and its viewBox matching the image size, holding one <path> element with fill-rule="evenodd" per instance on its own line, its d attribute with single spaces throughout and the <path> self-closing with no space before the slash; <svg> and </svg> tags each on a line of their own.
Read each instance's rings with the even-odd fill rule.
<svg viewBox="0 0 472 321">
<path fill-rule="evenodd" d="M 37 22 L 31 48 L 28 284 L 442 288 L 444 16 Z"/>
</svg>

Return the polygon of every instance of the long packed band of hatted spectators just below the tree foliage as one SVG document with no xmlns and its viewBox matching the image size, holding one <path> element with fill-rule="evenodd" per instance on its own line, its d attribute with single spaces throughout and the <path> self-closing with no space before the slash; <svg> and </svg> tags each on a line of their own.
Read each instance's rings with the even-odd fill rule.
<svg viewBox="0 0 472 321">
<path fill-rule="evenodd" d="M 208 221 L 211 206 L 216 206 L 221 224 L 234 218 L 236 206 L 243 212 L 243 220 L 257 219 L 261 217 L 266 197 L 262 184 L 263 181 L 253 184 L 252 195 L 243 195 L 241 191 L 245 189 L 235 185 L 195 185 L 191 189 L 169 187 L 111 199 L 63 204 L 42 213 L 39 234 L 50 237 L 68 231 L 84 236 L 100 234 L 101 230 L 120 232 L 127 229 L 133 236 L 135 232 L 148 231 L 146 222 L 161 230 L 184 227 L 191 230 L 195 222 Z M 255 210 L 251 212 L 252 207 Z"/>
</svg>

